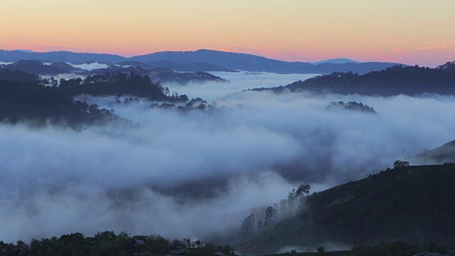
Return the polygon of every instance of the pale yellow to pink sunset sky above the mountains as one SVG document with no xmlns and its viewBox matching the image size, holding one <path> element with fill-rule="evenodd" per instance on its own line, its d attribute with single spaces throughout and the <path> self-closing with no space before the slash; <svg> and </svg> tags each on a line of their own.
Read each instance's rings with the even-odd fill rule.
<svg viewBox="0 0 455 256">
<path fill-rule="evenodd" d="M 453 0 L 4 0 L 0 49 L 225 50 L 288 61 L 455 60 Z"/>
</svg>

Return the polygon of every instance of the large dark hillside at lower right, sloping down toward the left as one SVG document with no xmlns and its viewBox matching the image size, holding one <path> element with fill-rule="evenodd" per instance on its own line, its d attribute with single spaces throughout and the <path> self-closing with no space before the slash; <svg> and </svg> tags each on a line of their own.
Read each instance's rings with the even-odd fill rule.
<svg viewBox="0 0 455 256">
<path fill-rule="evenodd" d="M 374 245 L 402 240 L 454 243 L 455 165 L 405 166 L 315 193 L 301 213 L 244 245 Z"/>
</svg>

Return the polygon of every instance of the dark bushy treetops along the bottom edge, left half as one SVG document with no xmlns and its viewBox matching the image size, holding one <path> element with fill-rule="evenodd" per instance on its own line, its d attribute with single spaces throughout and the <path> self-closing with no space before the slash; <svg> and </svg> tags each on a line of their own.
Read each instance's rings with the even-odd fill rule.
<svg viewBox="0 0 455 256">
<path fill-rule="evenodd" d="M 1 256 L 82 256 L 82 255 L 214 255 L 222 252 L 232 254 L 229 245 L 215 246 L 205 244 L 200 240 L 191 241 L 189 238 L 182 240 L 169 240 L 161 235 L 130 236 L 127 233 L 116 235 L 113 231 L 105 231 L 96 235 L 82 235 L 72 233 L 62 235 L 60 238 L 33 239 L 30 244 L 18 240 L 16 244 L 0 241 Z"/>
</svg>

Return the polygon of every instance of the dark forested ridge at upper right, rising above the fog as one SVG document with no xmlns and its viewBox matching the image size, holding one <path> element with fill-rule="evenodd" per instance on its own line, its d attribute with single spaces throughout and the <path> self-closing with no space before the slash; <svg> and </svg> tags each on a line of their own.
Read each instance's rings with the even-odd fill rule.
<svg viewBox="0 0 455 256">
<path fill-rule="evenodd" d="M 332 73 L 320 75 L 304 81 L 293 82 L 284 87 L 259 88 L 274 92 L 306 90 L 311 92 L 331 92 L 343 95 L 422 95 L 436 93 L 455 95 L 455 73 L 442 68 L 419 68 L 394 66 L 365 75 L 356 73 Z"/>
</svg>

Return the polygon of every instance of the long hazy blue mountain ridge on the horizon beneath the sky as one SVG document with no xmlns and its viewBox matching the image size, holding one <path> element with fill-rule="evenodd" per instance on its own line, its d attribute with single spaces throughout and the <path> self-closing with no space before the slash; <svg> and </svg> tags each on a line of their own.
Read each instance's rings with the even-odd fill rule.
<svg viewBox="0 0 455 256">
<path fill-rule="evenodd" d="M 323 61 L 316 65 L 304 62 L 287 62 L 274 60 L 247 53 L 230 53 L 218 50 L 195 51 L 163 51 L 146 55 L 137 55 L 130 58 L 120 55 L 104 53 L 73 53 L 70 51 L 54 51 L 47 53 L 27 52 L 24 50 L 0 50 L 0 61 L 16 62 L 18 60 L 41 60 L 51 62 L 68 62 L 82 64 L 87 62 L 124 63 L 140 62 L 145 65 L 156 65 L 166 61 L 176 63 L 174 66 L 186 64 L 191 71 L 220 71 L 220 70 L 245 70 L 250 72 L 270 73 L 300 73 L 300 74 L 326 74 L 332 72 L 368 73 L 373 70 L 383 70 L 399 63 L 355 63 L 353 60 L 338 59 Z M 339 63 L 333 63 L 338 61 Z M 171 68 L 171 67 L 166 67 Z M 185 70 L 182 70 L 185 71 Z"/>
</svg>

